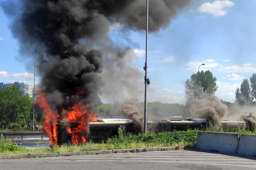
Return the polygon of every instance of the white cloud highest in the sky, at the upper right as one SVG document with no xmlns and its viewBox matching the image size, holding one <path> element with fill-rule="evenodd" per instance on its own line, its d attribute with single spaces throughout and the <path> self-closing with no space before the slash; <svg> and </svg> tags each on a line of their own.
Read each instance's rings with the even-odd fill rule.
<svg viewBox="0 0 256 170">
<path fill-rule="evenodd" d="M 213 3 L 206 2 L 202 4 L 198 9 L 197 12 L 200 13 L 208 13 L 212 14 L 214 17 L 224 16 L 228 13 L 228 10 L 224 9 L 225 7 L 234 6 L 235 3 L 229 0 L 215 0 Z"/>
</svg>

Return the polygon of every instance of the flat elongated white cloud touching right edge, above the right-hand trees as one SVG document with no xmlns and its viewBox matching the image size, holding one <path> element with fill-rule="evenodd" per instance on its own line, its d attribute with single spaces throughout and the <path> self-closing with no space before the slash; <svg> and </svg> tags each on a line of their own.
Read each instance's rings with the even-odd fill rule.
<svg viewBox="0 0 256 170">
<path fill-rule="evenodd" d="M 255 73 L 256 68 L 249 67 L 251 65 L 252 64 L 247 63 L 247 64 L 241 64 L 241 65 L 237 65 L 237 66 L 221 67 L 221 68 L 218 68 L 218 70 L 221 72 L 226 72 L 226 73 L 241 73 L 241 72 Z"/>
</svg>

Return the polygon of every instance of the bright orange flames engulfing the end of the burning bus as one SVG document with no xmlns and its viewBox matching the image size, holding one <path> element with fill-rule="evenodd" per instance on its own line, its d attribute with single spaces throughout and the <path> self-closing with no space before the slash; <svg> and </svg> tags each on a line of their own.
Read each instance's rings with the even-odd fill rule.
<svg viewBox="0 0 256 170">
<path fill-rule="evenodd" d="M 68 122 L 70 124 L 70 127 L 67 127 L 66 131 L 67 133 L 72 134 L 72 145 L 85 143 L 86 138 L 84 135 L 89 132 L 89 121 L 97 121 L 97 118 L 95 116 L 92 117 L 93 111 L 86 110 L 85 104 L 78 102 L 72 106 L 72 109 L 68 111 L 66 117 L 60 117 L 60 115 L 54 115 L 52 113 L 52 110 L 46 101 L 45 93 L 40 91 L 38 94 L 39 98 L 37 98 L 36 104 L 38 104 L 40 108 L 43 108 L 46 114 L 43 126 L 45 131 L 50 136 L 50 144 L 54 144 L 57 146 L 57 122 L 60 122 L 62 118 L 68 119 Z M 78 92 L 78 96 L 83 94 L 84 92 Z M 65 108 L 61 108 L 59 110 L 59 113 L 62 110 L 65 110 Z"/>
</svg>

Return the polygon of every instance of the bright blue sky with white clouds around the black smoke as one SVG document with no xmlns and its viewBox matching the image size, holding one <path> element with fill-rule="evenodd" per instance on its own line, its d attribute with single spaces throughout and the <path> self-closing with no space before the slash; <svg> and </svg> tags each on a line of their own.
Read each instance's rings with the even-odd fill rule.
<svg viewBox="0 0 256 170">
<path fill-rule="evenodd" d="M 255 7 L 255 0 L 193 1 L 172 18 L 169 26 L 149 33 L 148 101 L 185 103 L 185 81 L 205 63 L 200 70 L 210 70 L 216 76 L 219 89 L 215 94 L 234 102 L 236 88 L 244 78 L 249 80 L 256 73 Z M 17 41 L 2 10 L 0 22 L 0 82 L 33 83 L 34 65 L 19 57 Z M 121 32 L 124 33 L 122 25 L 117 25 L 109 36 L 115 42 L 122 41 L 118 37 Z M 137 54 L 133 64 L 145 74 L 145 32 L 129 31 L 126 36 Z M 36 77 L 36 82 L 39 81 Z M 144 88 L 143 78 L 141 88 Z M 140 101 L 144 101 L 143 94 L 144 91 Z"/>
</svg>

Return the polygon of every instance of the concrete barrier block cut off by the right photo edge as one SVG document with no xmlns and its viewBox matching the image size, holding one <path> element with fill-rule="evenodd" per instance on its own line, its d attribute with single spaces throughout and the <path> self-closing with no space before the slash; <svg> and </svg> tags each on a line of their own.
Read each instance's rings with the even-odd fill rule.
<svg viewBox="0 0 256 170">
<path fill-rule="evenodd" d="M 237 154 L 256 156 L 256 135 L 240 135 Z"/>
</svg>

